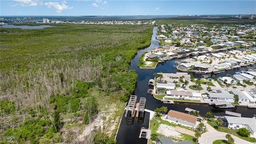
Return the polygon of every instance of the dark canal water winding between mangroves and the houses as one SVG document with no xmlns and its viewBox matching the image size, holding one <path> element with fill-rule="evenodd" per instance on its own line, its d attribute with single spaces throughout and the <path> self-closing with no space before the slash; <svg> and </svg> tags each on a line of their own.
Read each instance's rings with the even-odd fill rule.
<svg viewBox="0 0 256 144">
<path fill-rule="evenodd" d="M 157 27 L 154 27 L 153 35 L 151 38 L 151 45 L 146 49 L 139 50 L 138 54 L 135 55 L 134 59 L 131 61 L 130 69 L 134 69 L 138 74 L 137 86 L 134 91 L 134 95 L 137 95 L 137 100 L 140 97 L 145 97 L 146 100 L 146 109 L 153 110 L 158 107 L 166 106 L 169 110 L 177 110 L 181 112 L 185 112 L 185 108 L 189 107 L 195 110 L 200 111 L 199 114 L 204 116 L 208 111 L 211 111 L 214 115 L 224 115 L 225 110 L 234 111 L 236 113 L 242 114 L 243 117 L 252 117 L 256 115 L 255 109 L 249 109 L 247 107 L 235 107 L 230 109 L 219 109 L 214 108 L 212 106 L 202 104 L 202 103 L 185 103 L 185 102 L 175 102 L 174 105 L 165 104 L 161 101 L 154 99 L 153 96 L 147 94 L 148 90 L 148 81 L 150 78 L 154 78 L 154 73 L 176 73 L 178 70 L 173 67 L 175 64 L 175 60 L 169 60 L 165 62 L 163 65 L 158 64 L 155 69 L 139 69 L 138 63 L 139 59 L 141 58 L 142 54 L 147 51 L 151 51 L 156 47 L 161 45 L 158 44 L 158 40 L 156 39 L 157 36 Z M 235 74 L 237 71 L 242 71 L 244 68 L 241 69 L 233 69 L 226 71 L 225 73 L 217 74 L 218 76 L 226 76 L 227 74 Z M 195 77 L 201 77 L 199 74 L 195 74 Z M 125 117 L 123 115 L 121 119 L 121 123 L 117 132 L 117 143 L 147 143 L 146 139 L 139 139 L 140 129 L 141 127 L 148 127 L 149 126 L 149 113 L 146 112 L 145 119 L 142 124 L 137 122 L 138 120 L 135 118 L 134 123 L 132 125 L 126 124 Z"/>
</svg>

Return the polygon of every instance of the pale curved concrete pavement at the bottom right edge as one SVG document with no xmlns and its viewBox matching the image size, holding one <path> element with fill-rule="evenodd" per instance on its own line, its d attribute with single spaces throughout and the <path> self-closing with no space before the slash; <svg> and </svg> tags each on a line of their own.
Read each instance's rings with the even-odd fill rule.
<svg viewBox="0 0 256 144">
<path fill-rule="evenodd" d="M 201 144 L 211 144 L 215 140 L 227 140 L 226 134 L 225 132 L 206 132 L 201 135 L 198 142 Z M 240 139 L 235 135 L 231 135 L 231 137 L 235 140 L 235 144 L 251 144 L 251 142 Z"/>
</svg>

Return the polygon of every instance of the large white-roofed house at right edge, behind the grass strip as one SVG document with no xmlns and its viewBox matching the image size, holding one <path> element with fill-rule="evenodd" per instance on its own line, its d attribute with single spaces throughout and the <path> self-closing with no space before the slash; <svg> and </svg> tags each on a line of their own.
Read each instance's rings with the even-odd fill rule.
<svg viewBox="0 0 256 144">
<path fill-rule="evenodd" d="M 224 116 L 229 129 L 246 128 L 251 132 L 250 137 L 256 138 L 256 118 Z"/>
</svg>

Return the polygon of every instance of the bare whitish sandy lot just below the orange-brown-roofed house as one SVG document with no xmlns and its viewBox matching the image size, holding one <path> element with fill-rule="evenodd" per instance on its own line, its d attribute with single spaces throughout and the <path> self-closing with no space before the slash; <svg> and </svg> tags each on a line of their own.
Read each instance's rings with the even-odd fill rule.
<svg viewBox="0 0 256 144">
<path fill-rule="evenodd" d="M 175 127 L 172 127 L 172 126 L 169 126 L 169 125 L 165 125 L 165 124 L 159 125 L 157 133 L 161 133 L 165 137 L 181 138 L 181 134 L 179 132 L 175 131 Z"/>
</svg>

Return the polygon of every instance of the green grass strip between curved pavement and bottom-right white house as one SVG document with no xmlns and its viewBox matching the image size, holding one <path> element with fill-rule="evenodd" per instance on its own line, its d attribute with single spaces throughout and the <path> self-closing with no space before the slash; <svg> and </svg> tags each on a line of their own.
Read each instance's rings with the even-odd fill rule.
<svg viewBox="0 0 256 144">
<path fill-rule="evenodd" d="M 247 138 L 247 137 L 240 136 L 239 134 L 237 134 L 238 130 L 228 129 L 228 127 L 218 126 L 217 123 L 213 119 L 212 119 L 212 121 L 207 120 L 207 123 L 210 124 L 215 130 L 217 130 L 219 132 L 226 132 L 226 133 L 229 133 L 229 134 L 233 134 L 236 137 L 241 138 L 243 140 L 250 141 L 250 142 L 256 142 L 255 138 L 251 138 L 251 137 Z"/>
</svg>

